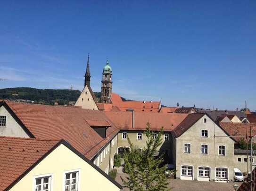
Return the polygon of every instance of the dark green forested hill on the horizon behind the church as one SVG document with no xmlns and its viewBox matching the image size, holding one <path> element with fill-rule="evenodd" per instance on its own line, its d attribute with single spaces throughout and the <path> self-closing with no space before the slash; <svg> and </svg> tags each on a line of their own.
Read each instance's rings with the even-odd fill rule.
<svg viewBox="0 0 256 191">
<path fill-rule="evenodd" d="M 0 89 L 0 99 L 27 99 L 34 103 L 46 105 L 68 104 L 69 101 L 76 101 L 80 95 L 79 90 L 53 90 L 53 89 L 36 89 L 28 87 L 5 88 Z M 97 98 L 100 97 L 99 92 L 95 92 Z"/>
</svg>

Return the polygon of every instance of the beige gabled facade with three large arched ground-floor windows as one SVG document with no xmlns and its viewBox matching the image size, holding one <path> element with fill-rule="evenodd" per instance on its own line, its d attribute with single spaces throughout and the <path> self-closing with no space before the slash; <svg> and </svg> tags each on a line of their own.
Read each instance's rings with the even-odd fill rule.
<svg viewBox="0 0 256 191">
<path fill-rule="evenodd" d="M 214 136 L 215 135 L 215 136 Z M 200 181 L 233 179 L 234 140 L 203 115 L 173 140 L 176 178 Z"/>
</svg>

